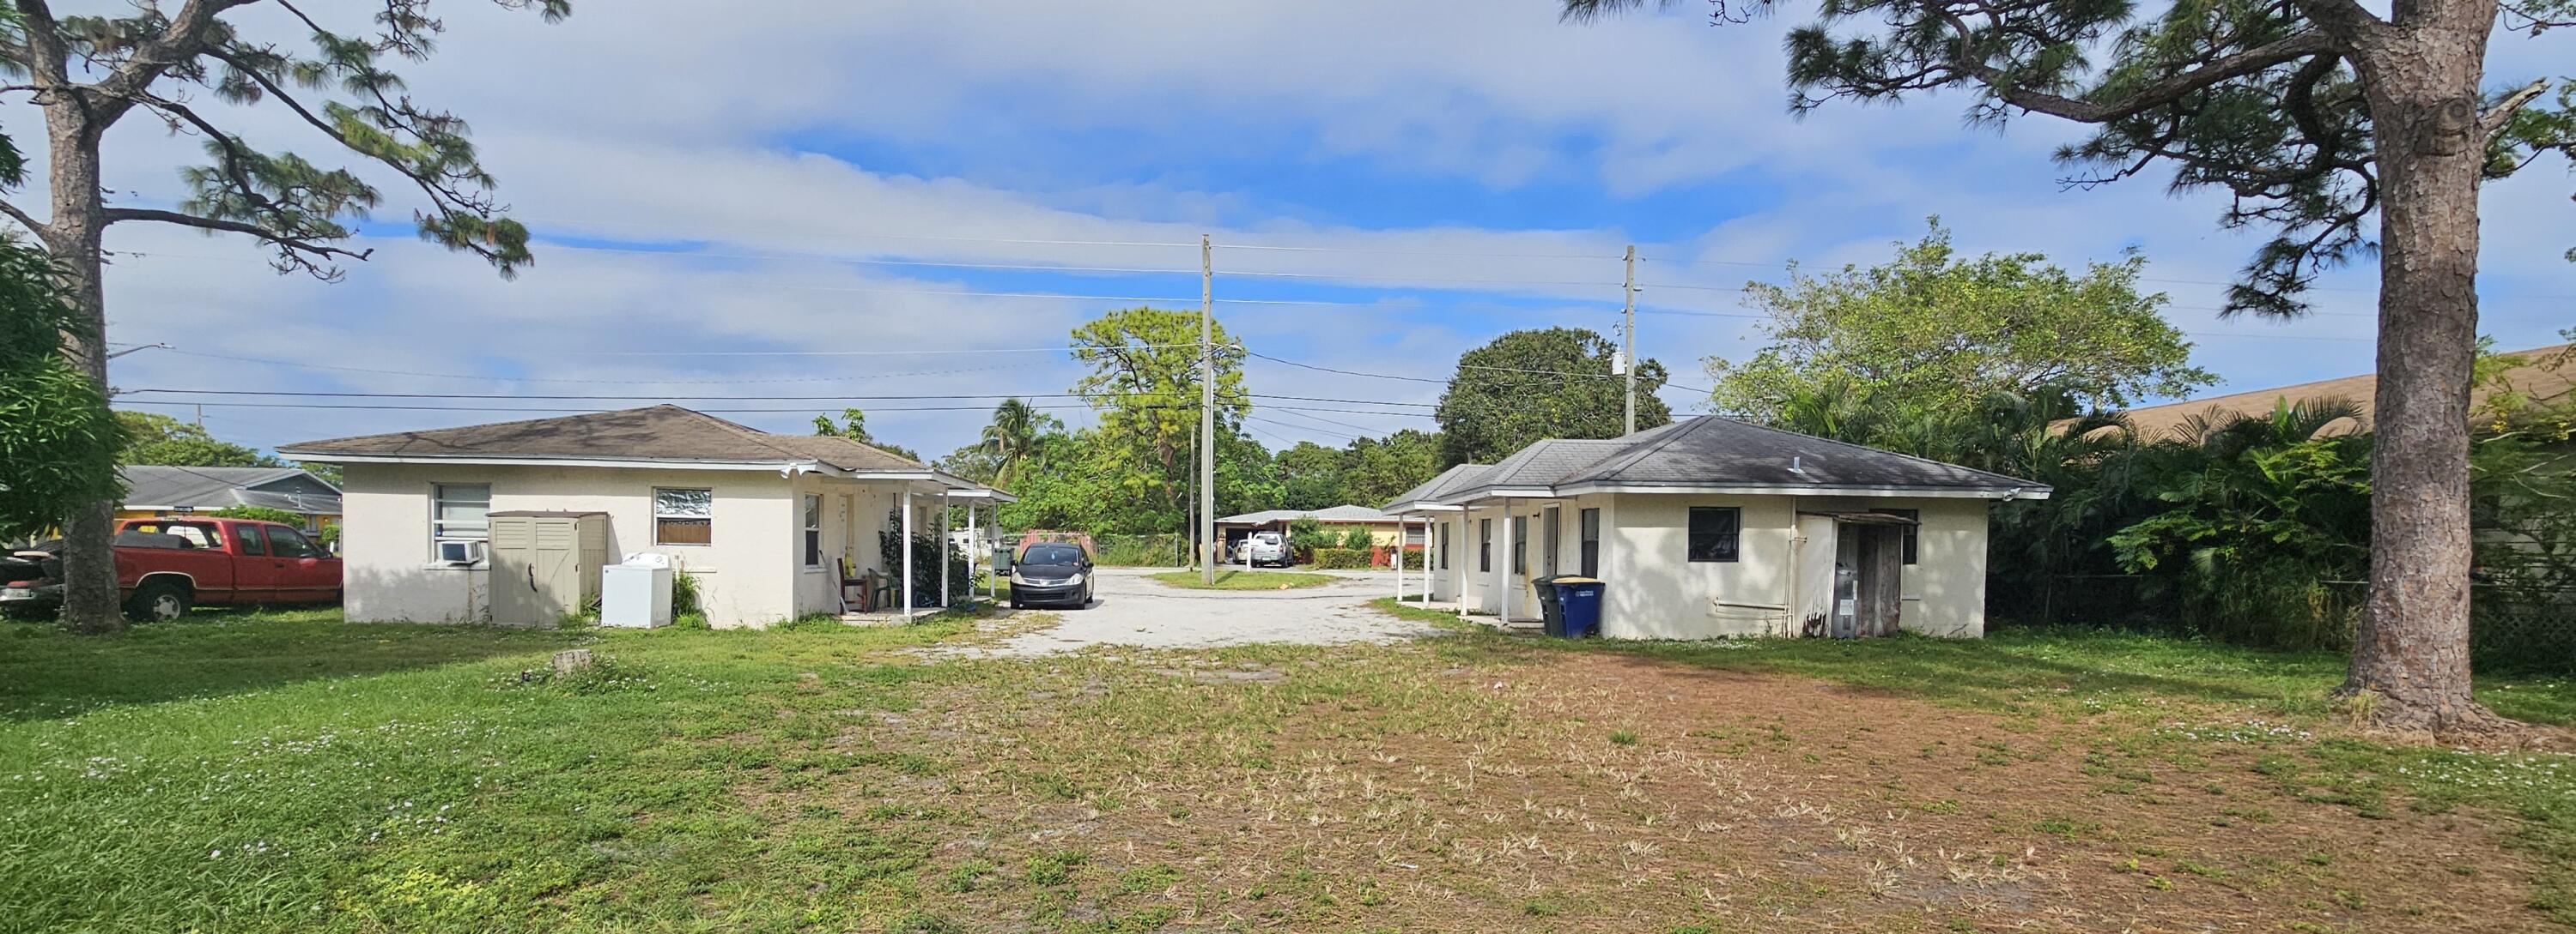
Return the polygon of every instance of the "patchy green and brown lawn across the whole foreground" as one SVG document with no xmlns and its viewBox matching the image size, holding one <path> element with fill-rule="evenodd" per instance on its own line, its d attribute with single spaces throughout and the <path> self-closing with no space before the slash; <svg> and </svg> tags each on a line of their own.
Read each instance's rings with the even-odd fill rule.
<svg viewBox="0 0 2576 934">
<path fill-rule="evenodd" d="M 935 651 L 979 638 L 966 620 L 603 633 L 289 612 L 124 638 L 13 623 L 0 929 L 2576 919 L 2568 759 L 2347 738 L 2318 700 L 2331 656 L 2097 633 L 1481 630 Z M 608 661 L 546 677 L 572 646 Z M 2483 697 L 2576 715 L 2568 679 Z"/>
</svg>

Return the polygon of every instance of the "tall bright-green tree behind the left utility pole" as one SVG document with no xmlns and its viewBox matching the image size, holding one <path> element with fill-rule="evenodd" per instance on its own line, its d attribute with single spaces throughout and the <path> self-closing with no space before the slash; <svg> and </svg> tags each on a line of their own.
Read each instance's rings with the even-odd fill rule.
<svg viewBox="0 0 2576 934">
<path fill-rule="evenodd" d="M 1198 476 L 1198 311 L 1121 309 L 1084 322 L 1072 337 L 1090 373 L 1074 383 L 1097 414 L 1097 443 L 1121 504 L 1154 530 L 1177 530 Z M 1242 350 L 1216 327 L 1216 432 L 1242 432 Z"/>
</svg>

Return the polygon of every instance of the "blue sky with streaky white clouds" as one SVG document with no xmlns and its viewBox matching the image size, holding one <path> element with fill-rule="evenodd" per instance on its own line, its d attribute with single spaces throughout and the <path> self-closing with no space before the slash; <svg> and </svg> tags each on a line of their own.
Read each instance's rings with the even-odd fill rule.
<svg viewBox="0 0 2576 934">
<path fill-rule="evenodd" d="M 781 0 L 721 18 L 634 0 L 580 5 L 551 28 L 477 3 L 440 15 L 451 36 L 410 72 L 412 93 L 474 121 L 502 198 L 538 232 L 536 268 L 505 283 L 415 242 L 389 180 L 361 237 L 379 252 L 343 283 L 273 275 L 245 242 L 118 226 L 111 337 L 175 347 L 116 360 L 124 399 L 623 396 L 801 430 L 842 401 L 744 396 L 1061 394 L 1077 368 L 1046 347 L 1136 304 L 1123 298 L 1195 304 L 1200 234 L 1218 242 L 1218 316 L 1252 350 L 1417 378 L 1448 376 L 1458 353 L 1515 327 L 1607 332 L 1618 255 L 1636 244 L 1654 311 L 1641 350 L 1703 386 L 1703 358 L 1757 347 L 1734 288 L 1783 278 L 1788 260 L 1875 262 L 1932 214 L 1976 252 L 2081 265 L 2143 250 L 2197 363 L 2231 389 L 2370 368 L 2370 268 L 2331 275 L 2306 322 L 2218 322 L 2221 283 L 2257 237 L 2218 232 L 2215 198 L 2169 198 L 2161 178 L 2061 190 L 2048 152 L 2074 129 L 1965 129 L 1960 95 L 1790 118 L 1785 21 L 1710 28 L 1682 10 L 1579 28 L 1517 0 Z M 286 23 L 242 28 L 294 39 Z M 2499 82 L 2550 75 L 2571 51 L 2563 39 L 2499 44 Z M 0 121 L 33 126 L 23 111 Z M 232 121 L 263 144 L 327 152 L 270 111 Z M 196 142 L 131 121 L 111 147 L 118 198 L 167 203 Z M 2568 190 L 2558 162 L 2488 190 L 2483 332 L 2509 347 L 2576 324 Z M 1347 409 L 1373 412 L 1427 412 L 1437 396 L 1435 383 L 1267 360 L 1249 378 L 1257 394 L 1370 399 Z M 222 401 L 260 401 L 209 407 L 206 425 L 263 448 L 510 417 Z M 1687 391 L 1667 401 L 1698 407 Z M 907 409 L 989 399 L 850 404 L 878 435 L 938 455 L 981 414 Z M 1262 414 L 1273 445 L 1430 427 Z"/>
</svg>

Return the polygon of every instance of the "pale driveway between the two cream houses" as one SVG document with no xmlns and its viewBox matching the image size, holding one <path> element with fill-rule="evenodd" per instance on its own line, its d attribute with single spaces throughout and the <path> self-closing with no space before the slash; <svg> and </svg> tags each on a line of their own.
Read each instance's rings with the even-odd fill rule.
<svg viewBox="0 0 2576 934">
<path fill-rule="evenodd" d="M 1306 589 L 1182 589 L 1151 569 L 1097 569 L 1087 610 L 1046 610 L 1054 628 L 1023 633 L 979 654 L 1043 656 L 1087 646 L 1200 648 L 1249 643 L 1386 643 L 1430 633 L 1370 607 L 1394 597 L 1386 571 L 1337 571 L 1345 581 Z M 1412 581 L 1406 581 L 1412 584 Z M 1028 610 L 1038 612 L 1038 610 Z"/>
</svg>

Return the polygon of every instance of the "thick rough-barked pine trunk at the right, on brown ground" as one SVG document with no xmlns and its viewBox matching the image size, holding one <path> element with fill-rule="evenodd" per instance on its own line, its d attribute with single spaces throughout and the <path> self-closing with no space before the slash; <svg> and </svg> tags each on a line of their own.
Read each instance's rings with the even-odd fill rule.
<svg viewBox="0 0 2576 934">
<path fill-rule="evenodd" d="M 2473 5 L 2470 5 L 2473 8 Z M 2478 733 L 2468 682 L 2468 386 L 2478 340 L 2478 82 L 2494 8 L 2365 54 L 2380 167 L 2370 600 L 2344 695 L 2375 726 Z"/>
</svg>

